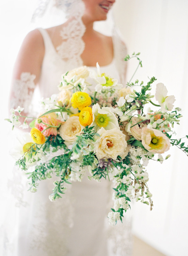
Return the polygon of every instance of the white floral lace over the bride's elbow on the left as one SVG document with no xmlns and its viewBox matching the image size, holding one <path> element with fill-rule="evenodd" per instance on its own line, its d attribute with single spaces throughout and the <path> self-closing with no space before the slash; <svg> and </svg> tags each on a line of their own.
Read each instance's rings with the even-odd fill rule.
<svg viewBox="0 0 188 256">
<path fill-rule="evenodd" d="M 24 108 L 25 113 L 31 110 L 31 100 L 35 88 L 35 75 L 29 72 L 23 72 L 20 75 L 20 80 L 14 80 L 10 97 L 10 107 Z"/>
</svg>

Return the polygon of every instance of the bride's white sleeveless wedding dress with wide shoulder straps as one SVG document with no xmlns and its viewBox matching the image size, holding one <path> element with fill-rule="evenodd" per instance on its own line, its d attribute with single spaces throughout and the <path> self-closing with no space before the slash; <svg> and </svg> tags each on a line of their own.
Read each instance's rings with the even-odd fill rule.
<svg viewBox="0 0 188 256">
<path fill-rule="evenodd" d="M 41 96 L 46 98 L 58 93 L 61 75 L 82 63 L 67 63 L 54 48 L 44 29 L 39 29 L 45 44 L 45 56 L 39 82 Z M 119 41 L 120 42 L 120 41 Z M 126 49 L 114 39 L 114 59 L 102 72 L 114 78 L 121 76 L 121 63 L 116 65 Z M 115 47 L 118 46 L 119 50 Z M 118 54 L 119 53 L 119 54 Z M 95 67 L 91 67 L 95 69 Z M 29 81 L 30 74 L 25 73 Z M 29 87 L 28 83 L 28 87 Z M 31 82 L 32 87 L 32 82 Z M 89 175 L 89 173 L 88 173 Z M 113 185 L 108 180 L 100 183 L 89 181 L 87 174 L 82 182 L 72 182 L 62 199 L 51 202 L 52 179 L 42 181 L 36 193 L 27 191 L 27 179 L 19 177 L 20 206 L 17 229 L 6 238 L 9 256 L 130 256 L 131 216 L 126 213 L 123 224 L 108 224 L 108 212 L 113 207 Z M 54 177 L 54 180 L 58 179 Z M 16 181 L 15 181 L 16 182 Z M 20 187 L 21 184 L 21 187 Z M 19 198 L 18 198 L 19 199 Z"/>
</svg>

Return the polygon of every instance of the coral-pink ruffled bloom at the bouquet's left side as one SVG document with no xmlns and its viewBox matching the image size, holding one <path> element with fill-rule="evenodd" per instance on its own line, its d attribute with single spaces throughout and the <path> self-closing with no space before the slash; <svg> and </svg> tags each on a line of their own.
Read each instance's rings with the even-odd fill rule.
<svg viewBox="0 0 188 256">
<path fill-rule="evenodd" d="M 38 119 L 39 120 L 41 119 L 42 122 L 45 124 L 38 123 Z M 50 136 L 50 135 L 56 136 L 57 135 L 57 128 L 48 126 L 48 125 L 59 126 L 62 123 L 61 120 L 57 119 L 56 113 L 50 113 L 50 114 L 44 115 L 38 119 L 36 119 L 36 121 L 35 121 L 35 128 L 37 128 L 40 131 L 44 131 L 46 128 L 49 127 L 48 129 L 46 129 L 43 132 L 44 136 Z"/>
</svg>

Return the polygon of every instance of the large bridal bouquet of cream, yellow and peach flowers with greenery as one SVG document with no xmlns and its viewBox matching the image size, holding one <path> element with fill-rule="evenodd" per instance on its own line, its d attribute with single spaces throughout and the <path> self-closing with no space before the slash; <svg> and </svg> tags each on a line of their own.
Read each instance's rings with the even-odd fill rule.
<svg viewBox="0 0 188 256">
<path fill-rule="evenodd" d="M 141 66 L 138 55 L 127 55 L 125 60 L 136 57 Z M 39 181 L 55 174 L 49 196 L 53 201 L 65 193 L 67 183 L 89 175 L 90 180 L 108 179 L 114 184 L 114 206 L 108 214 L 112 225 L 122 221 L 134 198 L 152 209 L 145 169 L 148 161 L 162 163 L 170 157 L 166 152 L 171 145 L 188 154 L 182 139 L 172 138 L 180 109 L 174 109 L 175 98 L 162 83 L 154 84 L 156 93 L 151 95 L 155 81 L 152 77 L 144 85 L 136 80 L 123 88 L 118 80 L 100 73 L 98 64 L 97 73 L 80 67 L 64 74 L 60 93 L 41 102 L 38 117 L 30 123 L 31 132 L 22 135 L 14 152 L 16 165 L 28 175 L 30 190 L 36 191 Z M 95 83 L 94 91 L 91 83 Z M 21 111 L 20 107 L 11 109 L 8 121 L 13 127 L 27 128 L 31 117 L 24 116 L 20 124 Z"/>
</svg>

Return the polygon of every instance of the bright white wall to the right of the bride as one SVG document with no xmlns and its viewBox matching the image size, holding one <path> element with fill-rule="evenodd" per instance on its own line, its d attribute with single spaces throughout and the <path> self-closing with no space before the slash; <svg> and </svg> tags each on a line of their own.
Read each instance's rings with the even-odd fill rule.
<svg viewBox="0 0 188 256">
<path fill-rule="evenodd" d="M 177 138 L 188 134 L 188 1 L 117 0 L 115 20 L 131 55 L 141 52 L 143 68 L 135 79 L 147 82 L 155 76 L 175 95 L 175 106 L 182 108 Z M 129 63 L 128 78 L 136 67 Z M 169 153 L 169 152 L 168 152 Z M 135 203 L 134 233 L 169 256 L 188 255 L 188 161 L 172 148 L 171 157 L 150 163 L 148 182 L 154 208 Z"/>
</svg>

